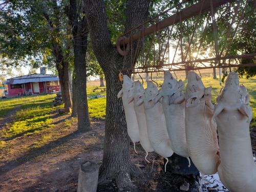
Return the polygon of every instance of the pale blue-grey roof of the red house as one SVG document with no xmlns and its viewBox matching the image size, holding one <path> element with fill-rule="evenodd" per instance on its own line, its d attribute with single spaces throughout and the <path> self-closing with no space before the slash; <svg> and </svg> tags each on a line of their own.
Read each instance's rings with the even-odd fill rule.
<svg viewBox="0 0 256 192">
<path fill-rule="evenodd" d="M 31 75 L 23 75 L 23 76 L 7 79 L 3 84 L 22 84 L 27 82 L 44 82 L 44 81 L 57 81 L 57 80 L 59 80 L 57 75 L 34 73 Z"/>
</svg>

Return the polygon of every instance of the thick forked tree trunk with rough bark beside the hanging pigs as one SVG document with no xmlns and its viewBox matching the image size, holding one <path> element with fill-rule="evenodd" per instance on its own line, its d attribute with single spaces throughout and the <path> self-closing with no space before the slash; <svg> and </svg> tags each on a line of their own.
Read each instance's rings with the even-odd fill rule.
<svg viewBox="0 0 256 192">
<path fill-rule="evenodd" d="M 115 179 L 118 187 L 132 184 L 130 175 L 138 176 L 140 169 L 130 158 L 130 139 L 121 98 L 122 88 L 118 70 L 123 67 L 123 57 L 111 44 L 107 16 L 102 0 L 84 0 L 94 54 L 104 72 L 106 81 L 106 121 L 103 161 L 99 169 L 99 182 Z M 125 31 L 131 30 L 147 19 L 148 0 L 132 0 L 127 4 Z M 131 67 L 126 56 L 124 69 Z"/>
</svg>

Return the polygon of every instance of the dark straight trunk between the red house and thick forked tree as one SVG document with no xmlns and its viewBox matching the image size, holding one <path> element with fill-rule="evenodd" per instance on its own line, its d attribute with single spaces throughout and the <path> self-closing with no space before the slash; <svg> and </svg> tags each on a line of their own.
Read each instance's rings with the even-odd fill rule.
<svg viewBox="0 0 256 192">
<path fill-rule="evenodd" d="M 76 99 L 78 131 L 86 132 L 91 130 L 91 122 L 88 111 L 87 92 L 86 92 L 86 52 L 88 38 L 88 24 L 83 16 L 78 21 L 76 0 L 70 0 L 69 9 L 66 13 L 72 22 L 72 34 L 74 37 L 74 92 Z"/>
</svg>

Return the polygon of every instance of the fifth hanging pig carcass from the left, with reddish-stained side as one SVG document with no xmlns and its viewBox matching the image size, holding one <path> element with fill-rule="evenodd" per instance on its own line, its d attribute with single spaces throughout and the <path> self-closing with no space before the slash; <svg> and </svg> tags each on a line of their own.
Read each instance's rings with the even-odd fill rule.
<svg viewBox="0 0 256 192">
<path fill-rule="evenodd" d="M 185 129 L 188 153 L 202 174 L 217 172 L 220 164 L 217 125 L 212 119 L 214 105 L 211 103 L 211 87 L 205 88 L 201 78 L 188 72 L 185 93 Z"/>
</svg>

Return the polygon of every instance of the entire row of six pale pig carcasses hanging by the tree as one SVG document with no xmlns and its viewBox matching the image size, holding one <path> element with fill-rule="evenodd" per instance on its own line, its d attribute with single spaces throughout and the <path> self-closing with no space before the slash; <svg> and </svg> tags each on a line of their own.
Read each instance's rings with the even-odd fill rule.
<svg viewBox="0 0 256 192">
<path fill-rule="evenodd" d="M 167 162 L 173 153 L 186 157 L 188 166 L 190 157 L 202 174 L 200 188 L 204 175 L 218 172 L 230 191 L 255 191 L 256 166 L 249 134 L 252 110 L 238 74 L 229 73 L 215 106 L 211 87 L 205 88 L 195 72 L 188 72 L 185 94 L 183 89 L 182 81 L 170 72 L 164 73 L 160 90 L 152 81 L 147 81 L 144 90 L 140 81 L 123 76 L 118 97 L 122 97 L 134 146 L 140 141 L 147 162 L 148 152 L 153 151 Z"/>
</svg>

